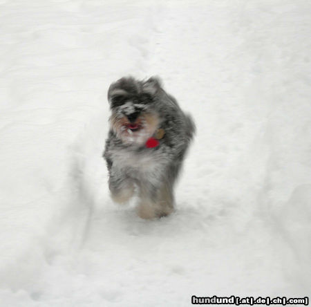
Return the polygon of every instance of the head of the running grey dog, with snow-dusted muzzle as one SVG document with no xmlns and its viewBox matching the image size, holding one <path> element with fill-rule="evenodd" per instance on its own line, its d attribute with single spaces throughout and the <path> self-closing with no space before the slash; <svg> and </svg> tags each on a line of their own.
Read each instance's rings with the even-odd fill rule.
<svg viewBox="0 0 311 307">
<path fill-rule="evenodd" d="M 155 108 L 158 91 L 156 77 L 147 81 L 123 77 L 109 87 L 111 129 L 125 144 L 142 145 L 155 133 L 160 121 Z"/>
</svg>

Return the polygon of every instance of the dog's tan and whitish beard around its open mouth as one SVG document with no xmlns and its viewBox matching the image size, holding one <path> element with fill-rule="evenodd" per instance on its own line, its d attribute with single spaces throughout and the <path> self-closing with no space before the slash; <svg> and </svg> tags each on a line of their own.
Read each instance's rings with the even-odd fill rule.
<svg viewBox="0 0 311 307">
<path fill-rule="evenodd" d="M 124 144 L 143 145 L 156 132 L 159 118 L 155 113 L 142 113 L 134 123 L 131 123 L 126 116 L 113 113 L 110 124 L 117 138 Z"/>
</svg>

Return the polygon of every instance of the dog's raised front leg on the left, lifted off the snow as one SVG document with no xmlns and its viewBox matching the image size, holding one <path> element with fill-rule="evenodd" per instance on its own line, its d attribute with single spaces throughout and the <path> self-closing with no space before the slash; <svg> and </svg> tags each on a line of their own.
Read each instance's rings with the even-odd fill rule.
<svg viewBox="0 0 311 307">
<path fill-rule="evenodd" d="M 120 172 L 109 177 L 111 198 L 115 203 L 126 203 L 134 194 L 134 185 L 129 178 L 120 176 Z"/>
</svg>

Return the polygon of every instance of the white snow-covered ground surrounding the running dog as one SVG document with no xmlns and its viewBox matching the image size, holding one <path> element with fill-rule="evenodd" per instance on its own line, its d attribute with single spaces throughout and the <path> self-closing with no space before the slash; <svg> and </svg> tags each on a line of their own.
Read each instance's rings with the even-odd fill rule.
<svg viewBox="0 0 311 307">
<path fill-rule="evenodd" d="M 0 306 L 310 295 L 310 29 L 308 0 L 1 0 Z M 158 221 L 109 198 L 124 75 L 197 125 Z"/>
</svg>

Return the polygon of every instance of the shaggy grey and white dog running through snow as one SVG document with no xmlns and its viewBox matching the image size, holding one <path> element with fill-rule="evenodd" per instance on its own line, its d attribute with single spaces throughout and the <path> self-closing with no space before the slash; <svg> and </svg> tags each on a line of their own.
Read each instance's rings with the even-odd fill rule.
<svg viewBox="0 0 311 307">
<path fill-rule="evenodd" d="M 157 77 L 123 77 L 109 87 L 108 100 L 112 114 L 104 158 L 113 201 L 129 201 L 137 191 L 141 218 L 167 216 L 194 122 Z"/>
</svg>

